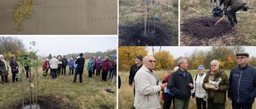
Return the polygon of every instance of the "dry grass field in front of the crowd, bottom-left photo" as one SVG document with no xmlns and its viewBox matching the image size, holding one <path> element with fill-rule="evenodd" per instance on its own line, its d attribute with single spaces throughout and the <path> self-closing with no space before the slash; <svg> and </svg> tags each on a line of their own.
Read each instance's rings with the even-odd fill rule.
<svg viewBox="0 0 256 109">
<path fill-rule="evenodd" d="M 87 61 L 86 61 L 87 64 Z M 52 80 L 50 72 L 46 77 L 42 76 L 42 66 L 38 66 L 39 71 L 39 88 L 38 99 L 45 98 L 52 100 L 52 103 L 47 105 L 61 105 L 61 108 L 69 109 L 113 109 L 117 106 L 117 85 L 111 83 L 111 80 L 101 82 L 102 76 L 93 76 L 88 78 L 88 71 L 86 65 L 83 73 L 83 83 L 73 83 L 74 76 L 69 76 L 68 67 L 66 68 L 66 75 L 58 76 L 56 80 Z M 21 105 L 21 82 L 11 82 L 12 74 L 8 76 L 10 81 L 7 84 L 0 84 L 0 108 L 9 109 L 14 106 Z M 79 77 L 78 77 L 79 78 Z M 37 87 L 37 86 L 35 86 Z M 105 91 L 110 88 L 114 94 Z M 70 107 L 67 107 L 70 105 Z"/>
</svg>

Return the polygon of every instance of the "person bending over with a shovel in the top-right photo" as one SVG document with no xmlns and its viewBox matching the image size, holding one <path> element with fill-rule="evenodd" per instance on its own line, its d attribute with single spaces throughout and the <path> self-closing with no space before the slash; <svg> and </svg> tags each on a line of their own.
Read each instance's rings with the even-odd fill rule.
<svg viewBox="0 0 256 109">
<path fill-rule="evenodd" d="M 230 21 L 230 25 L 228 25 L 230 28 L 233 28 L 235 24 L 238 23 L 238 19 L 236 17 L 236 12 L 238 10 L 241 10 L 242 7 L 246 5 L 246 2 L 244 0 L 222 0 L 224 3 L 224 14 L 227 15 L 227 18 Z M 222 5 L 222 2 L 220 5 Z"/>
</svg>

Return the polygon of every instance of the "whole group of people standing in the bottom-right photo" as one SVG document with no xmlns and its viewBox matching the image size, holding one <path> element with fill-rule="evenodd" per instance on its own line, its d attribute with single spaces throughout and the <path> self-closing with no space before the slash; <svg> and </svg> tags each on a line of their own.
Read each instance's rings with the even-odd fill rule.
<svg viewBox="0 0 256 109">
<path fill-rule="evenodd" d="M 163 108 L 188 109 L 190 98 L 196 100 L 198 109 L 225 109 L 226 97 L 232 101 L 233 109 L 251 109 L 256 97 L 256 69 L 247 61 L 248 53 L 237 53 L 238 66 L 228 77 L 219 68 L 218 60 L 210 62 L 210 71 L 201 64 L 198 74 L 192 78 L 187 71 L 185 58 L 178 60 L 178 67 L 170 72 L 162 83 L 153 71 L 154 56 L 136 56 L 136 64 L 130 68 L 129 84 L 134 82 L 135 108 L 161 108 L 159 91 L 163 91 Z"/>
</svg>

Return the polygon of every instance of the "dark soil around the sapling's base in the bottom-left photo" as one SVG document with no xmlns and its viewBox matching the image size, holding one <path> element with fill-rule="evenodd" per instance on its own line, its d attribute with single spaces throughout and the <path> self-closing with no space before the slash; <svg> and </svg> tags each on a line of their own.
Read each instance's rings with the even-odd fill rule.
<svg viewBox="0 0 256 109">
<path fill-rule="evenodd" d="M 25 105 L 29 105 L 29 101 L 25 99 Z M 54 95 L 38 96 L 38 105 L 40 109 L 78 109 L 78 107 L 71 106 L 70 103 L 63 103 L 61 98 L 54 97 Z M 14 103 L 9 108 L 20 109 L 22 103 Z"/>
</svg>

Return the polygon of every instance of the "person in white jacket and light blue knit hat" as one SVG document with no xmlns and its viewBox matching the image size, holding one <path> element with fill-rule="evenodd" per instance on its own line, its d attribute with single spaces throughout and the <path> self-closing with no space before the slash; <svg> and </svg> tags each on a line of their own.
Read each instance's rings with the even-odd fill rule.
<svg viewBox="0 0 256 109">
<path fill-rule="evenodd" d="M 196 99 L 198 109 L 206 109 L 206 90 L 202 88 L 203 80 L 206 77 L 205 67 L 200 64 L 198 66 L 198 75 L 194 76 L 194 89 L 192 91 L 192 97 Z"/>
</svg>

